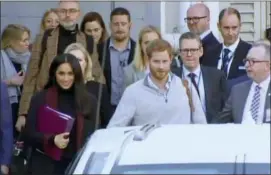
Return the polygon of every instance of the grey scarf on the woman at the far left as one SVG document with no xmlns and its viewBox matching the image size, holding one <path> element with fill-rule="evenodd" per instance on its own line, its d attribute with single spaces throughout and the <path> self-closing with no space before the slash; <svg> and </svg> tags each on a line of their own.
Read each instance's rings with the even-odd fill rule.
<svg viewBox="0 0 271 175">
<path fill-rule="evenodd" d="M 31 53 L 25 52 L 22 54 L 14 52 L 11 48 L 1 50 L 1 81 L 9 80 L 17 71 L 12 62 L 22 65 L 22 69 L 25 72 L 27 69 L 27 64 L 30 59 Z M 18 103 L 18 96 L 21 94 L 19 86 L 9 86 L 8 95 L 10 104 Z"/>
</svg>

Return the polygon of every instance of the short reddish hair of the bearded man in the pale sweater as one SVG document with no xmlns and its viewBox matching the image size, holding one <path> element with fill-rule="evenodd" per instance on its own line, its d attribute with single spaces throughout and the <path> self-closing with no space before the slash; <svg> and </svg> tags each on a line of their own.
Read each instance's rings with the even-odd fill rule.
<svg viewBox="0 0 271 175">
<path fill-rule="evenodd" d="M 152 57 L 153 52 L 163 52 L 167 51 L 169 57 L 172 58 L 173 49 L 170 43 L 163 39 L 155 39 L 151 41 L 146 48 L 147 56 L 150 59 Z"/>
</svg>

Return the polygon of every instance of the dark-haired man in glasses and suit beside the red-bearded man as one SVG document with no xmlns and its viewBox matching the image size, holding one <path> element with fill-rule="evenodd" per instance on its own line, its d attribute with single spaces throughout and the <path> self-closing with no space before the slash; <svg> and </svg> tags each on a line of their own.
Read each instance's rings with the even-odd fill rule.
<svg viewBox="0 0 271 175">
<path fill-rule="evenodd" d="M 223 72 L 201 66 L 199 58 L 203 54 L 201 40 L 198 35 L 187 32 L 179 40 L 180 55 L 183 65 L 173 68 L 172 72 L 182 79 L 187 79 L 189 87 L 196 89 L 207 122 L 210 123 L 224 107 L 227 98 L 226 79 Z"/>
</svg>

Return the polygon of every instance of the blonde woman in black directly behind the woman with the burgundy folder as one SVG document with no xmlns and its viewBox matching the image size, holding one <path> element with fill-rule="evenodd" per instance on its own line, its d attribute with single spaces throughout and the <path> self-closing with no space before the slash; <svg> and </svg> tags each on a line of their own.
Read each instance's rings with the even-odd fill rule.
<svg viewBox="0 0 271 175">
<path fill-rule="evenodd" d="M 101 101 L 100 106 L 100 126 L 105 128 L 108 124 L 111 116 L 112 110 L 110 109 L 109 95 L 106 90 L 105 84 L 94 81 L 92 76 L 92 59 L 88 54 L 87 50 L 80 43 L 72 43 L 65 49 L 64 53 L 69 53 L 74 55 L 81 66 L 81 70 L 85 79 L 86 88 L 94 95 L 99 101 Z M 101 92 L 101 93 L 100 93 Z"/>
</svg>

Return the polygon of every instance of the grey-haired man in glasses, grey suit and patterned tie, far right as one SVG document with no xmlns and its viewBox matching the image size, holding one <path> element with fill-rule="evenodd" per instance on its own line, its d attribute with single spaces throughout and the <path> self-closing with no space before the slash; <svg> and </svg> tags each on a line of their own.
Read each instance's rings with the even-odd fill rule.
<svg viewBox="0 0 271 175">
<path fill-rule="evenodd" d="M 215 123 L 270 123 L 270 50 L 256 42 L 244 59 L 249 81 L 235 85 Z"/>
</svg>

